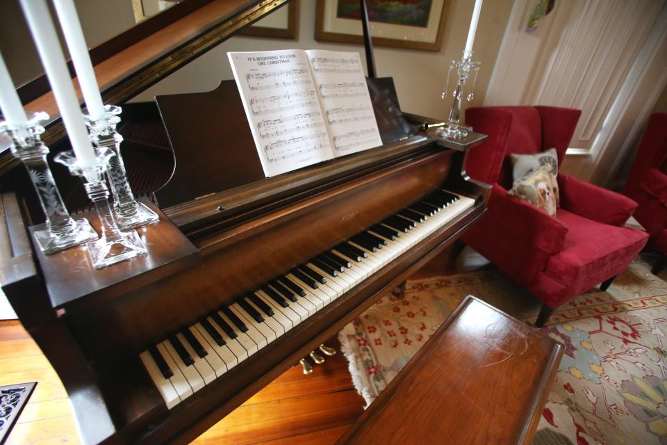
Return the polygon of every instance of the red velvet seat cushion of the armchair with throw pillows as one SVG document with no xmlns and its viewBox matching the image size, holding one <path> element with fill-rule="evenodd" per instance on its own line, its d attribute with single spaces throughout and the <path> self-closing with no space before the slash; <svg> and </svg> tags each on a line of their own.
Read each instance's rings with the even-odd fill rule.
<svg viewBox="0 0 667 445">
<path fill-rule="evenodd" d="M 637 229 L 599 223 L 565 209 L 559 209 L 556 218 L 568 232 L 545 273 L 577 292 L 620 273 L 648 240 Z"/>
</svg>

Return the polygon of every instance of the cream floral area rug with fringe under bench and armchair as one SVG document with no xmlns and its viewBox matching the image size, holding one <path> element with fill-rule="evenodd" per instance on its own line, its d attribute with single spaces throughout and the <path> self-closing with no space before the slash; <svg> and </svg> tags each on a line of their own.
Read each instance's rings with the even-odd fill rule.
<svg viewBox="0 0 667 445">
<path fill-rule="evenodd" d="M 530 323 L 539 309 L 498 271 L 408 282 L 339 334 L 367 403 L 468 294 Z M 566 350 L 534 445 L 667 445 L 667 283 L 648 264 L 563 305 L 543 330 Z"/>
</svg>

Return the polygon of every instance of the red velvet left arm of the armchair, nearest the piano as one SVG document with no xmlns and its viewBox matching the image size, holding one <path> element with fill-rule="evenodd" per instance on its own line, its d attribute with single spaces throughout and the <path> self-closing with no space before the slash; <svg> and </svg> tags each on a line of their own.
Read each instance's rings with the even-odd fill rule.
<svg viewBox="0 0 667 445">
<path fill-rule="evenodd" d="M 513 238 L 526 241 L 548 254 L 563 248 L 568 233 L 563 223 L 518 197 L 510 196 L 497 184 L 493 184 L 488 213 L 493 223 Z"/>
</svg>

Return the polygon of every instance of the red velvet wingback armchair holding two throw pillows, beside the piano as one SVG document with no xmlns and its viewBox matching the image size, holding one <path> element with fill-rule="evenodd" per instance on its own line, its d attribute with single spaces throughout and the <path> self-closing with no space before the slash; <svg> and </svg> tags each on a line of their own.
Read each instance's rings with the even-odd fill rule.
<svg viewBox="0 0 667 445">
<path fill-rule="evenodd" d="M 647 234 L 623 227 L 637 204 L 628 197 L 559 173 L 555 217 L 508 194 L 509 154 L 555 147 L 558 162 L 581 111 L 550 106 L 480 107 L 466 124 L 488 134 L 468 155 L 470 177 L 493 184 L 488 211 L 463 241 L 525 286 L 543 306 L 536 325 L 554 309 L 602 282 L 606 290 L 643 248 Z"/>
</svg>

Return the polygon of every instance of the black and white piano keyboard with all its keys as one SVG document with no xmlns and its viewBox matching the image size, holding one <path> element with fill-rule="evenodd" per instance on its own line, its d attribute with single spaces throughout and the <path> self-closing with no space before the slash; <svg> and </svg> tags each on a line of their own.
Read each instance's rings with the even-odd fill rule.
<svg viewBox="0 0 667 445">
<path fill-rule="evenodd" d="M 169 409 L 475 204 L 436 191 L 140 354 Z"/>
</svg>

